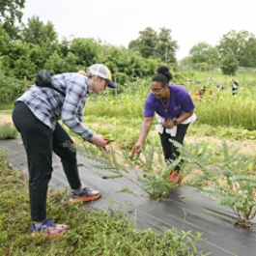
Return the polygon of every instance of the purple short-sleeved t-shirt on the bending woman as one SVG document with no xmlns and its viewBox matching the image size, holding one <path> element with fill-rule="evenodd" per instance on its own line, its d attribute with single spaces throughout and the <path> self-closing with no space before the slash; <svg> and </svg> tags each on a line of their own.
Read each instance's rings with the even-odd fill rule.
<svg viewBox="0 0 256 256">
<path fill-rule="evenodd" d="M 150 94 L 145 103 L 144 117 L 154 117 L 156 112 L 162 118 L 173 119 L 195 108 L 193 101 L 183 86 L 170 84 L 169 89 L 171 98 L 167 106 L 167 112 L 165 112 L 161 100 L 157 100 L 154 94 Z M 163 104 L 166 105 L 167 101 L 163 101 Z"/>
</svg>

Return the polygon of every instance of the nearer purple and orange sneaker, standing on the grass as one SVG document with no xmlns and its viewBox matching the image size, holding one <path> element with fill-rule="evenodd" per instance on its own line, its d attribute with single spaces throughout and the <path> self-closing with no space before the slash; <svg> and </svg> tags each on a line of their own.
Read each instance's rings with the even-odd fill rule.
<svg viewBox="0 0 256 256">
<path fill-rule="evenodd" d="M 33 228 L 33 238 L 36 238 L 37 236 L 55 238 L 61 236 L 67 229 L 69 229 L 69 226 L 64 224 L 55 224 L 47 218 L 43 221 L 40 228 L 37 229 L 35 223 L 31 223 L 31 226 Z"/>
</svg>

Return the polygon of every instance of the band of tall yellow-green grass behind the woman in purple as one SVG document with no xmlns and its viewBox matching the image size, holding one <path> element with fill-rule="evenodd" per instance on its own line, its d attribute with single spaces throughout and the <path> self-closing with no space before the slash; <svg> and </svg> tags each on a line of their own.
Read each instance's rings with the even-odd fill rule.
<svg viewBox="0 0 256 256">
<path fill-rule="evenodd" d="M 256 128 L 256 100 L 254 89 L 244 87 L 239 89 L 237 96 L 233 97 L 231 90 L 224 90 L 217 93 L 216 88 L 208 85 L 208 92 L 213 91 L 213 95 L 208 95 L 202 100 L 196 100 L 194 92 L 197 88 L 185 84 L 195 104 L 197 124 L 210 125 L 213 127 L 233 127 L 254 130 Z M 143 118 L 145 99 L 147 97 L 138 95 L 120 95 L 118 98 L 99 96 L 98 101 L 89 99 L 85 107 L 85 116 L 95 115 L 98 117 L 117 118 L 129 121 Z"/>
</svg>

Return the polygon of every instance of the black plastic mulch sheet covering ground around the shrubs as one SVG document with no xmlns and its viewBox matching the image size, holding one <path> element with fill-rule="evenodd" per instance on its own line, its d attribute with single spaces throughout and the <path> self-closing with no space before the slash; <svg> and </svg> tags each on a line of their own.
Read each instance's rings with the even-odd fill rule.
<svg viewBox="0 0 256 256">
<path fill-rule="evenodd" d="M 20 138 L 0 141 L 0 149 L 6 150 L 9 161 L 14 168 L 27 171 L 27 160 Z M 162 233 L 170 228 L 203 232 L 206 242 L 198 242 L 199 250 L 212 252 L 211 255 L 256 255 L 256 230 L 238 229 L 234 226 L 236 215 L 225 207 L 217 205 L 213 200 L 203 196 L 193 187 L 173 188 L 165 201 L 149 199 L 147 194 L 127 179 L 102 179 L 99 172 L 92 170 L 90 159 L 77 156 L 80 178 L 83 185 L 99 189 L 102 196 L 87 205 L 94 209 L 108 209 L 114 200 L 125 204 L 127 213 L 135 218 L 139 229 L 154 228 Z M 68 185 L 58 156 L 53 155 L 53 175 L 50 185 L 65 187 Z M 106 171 L 107 173 L 107 171 Z M 136 178 L 134 170 L 130 177 Z M 124 187 L 134 194 L 116 193 Z M 255 218 L 253 219 L 256 227 Z"/>
</svg>

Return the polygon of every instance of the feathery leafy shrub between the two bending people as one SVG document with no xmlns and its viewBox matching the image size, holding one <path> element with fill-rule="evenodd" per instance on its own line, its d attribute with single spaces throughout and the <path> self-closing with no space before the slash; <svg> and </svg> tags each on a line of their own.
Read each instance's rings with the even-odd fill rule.
<svg viewBox="0 0 256 256">
<path fill-rule="evenodd" d="M 154 145 L 148 150 L 142 150 L 135 158 L 130 158 L 127 153 L 123 152 L 122 155 L 116 153 L 112 148 L 109 154 L 101 152 L 98 154 L 98 149 L 94 146 L 74 146 L 70 143 L 65 143 L 64 147 L 69 147 L 72 151 L 78 152 L 82 156 L 86 156 L 99 163 L 92 163 L 92 167 L 100 170 L 107 170 L 112 173 L 110 179 L 126 178 L 131 183 L 138 185 L 142 190 L 147 192 L 153 199 L 163 199 L 168 194 L 172 187 L 178 186 L 176 183 L 169 182 L 170 172 L 174 169 L 177 162 L 166 164 L 161 160 L 161 154 L 157 154 L 158 160 L 153 161 L 154 153 L 161 151 L 161 148 L 156 149 Z M 122 162 L 123 164 L 120 164 Z M 128 167 L 135 170 L 135 165 L 140 164 L 143 172 L 136 172 L 137 180 L 131 179 L 128 175 Z M 158 174 L 154 173 L 154 168 L 158 170 Z M 136 171 L 136 170 L 135 170 Z M 105 179 L 108 176 L 104 175 Z"/>
</svg>

